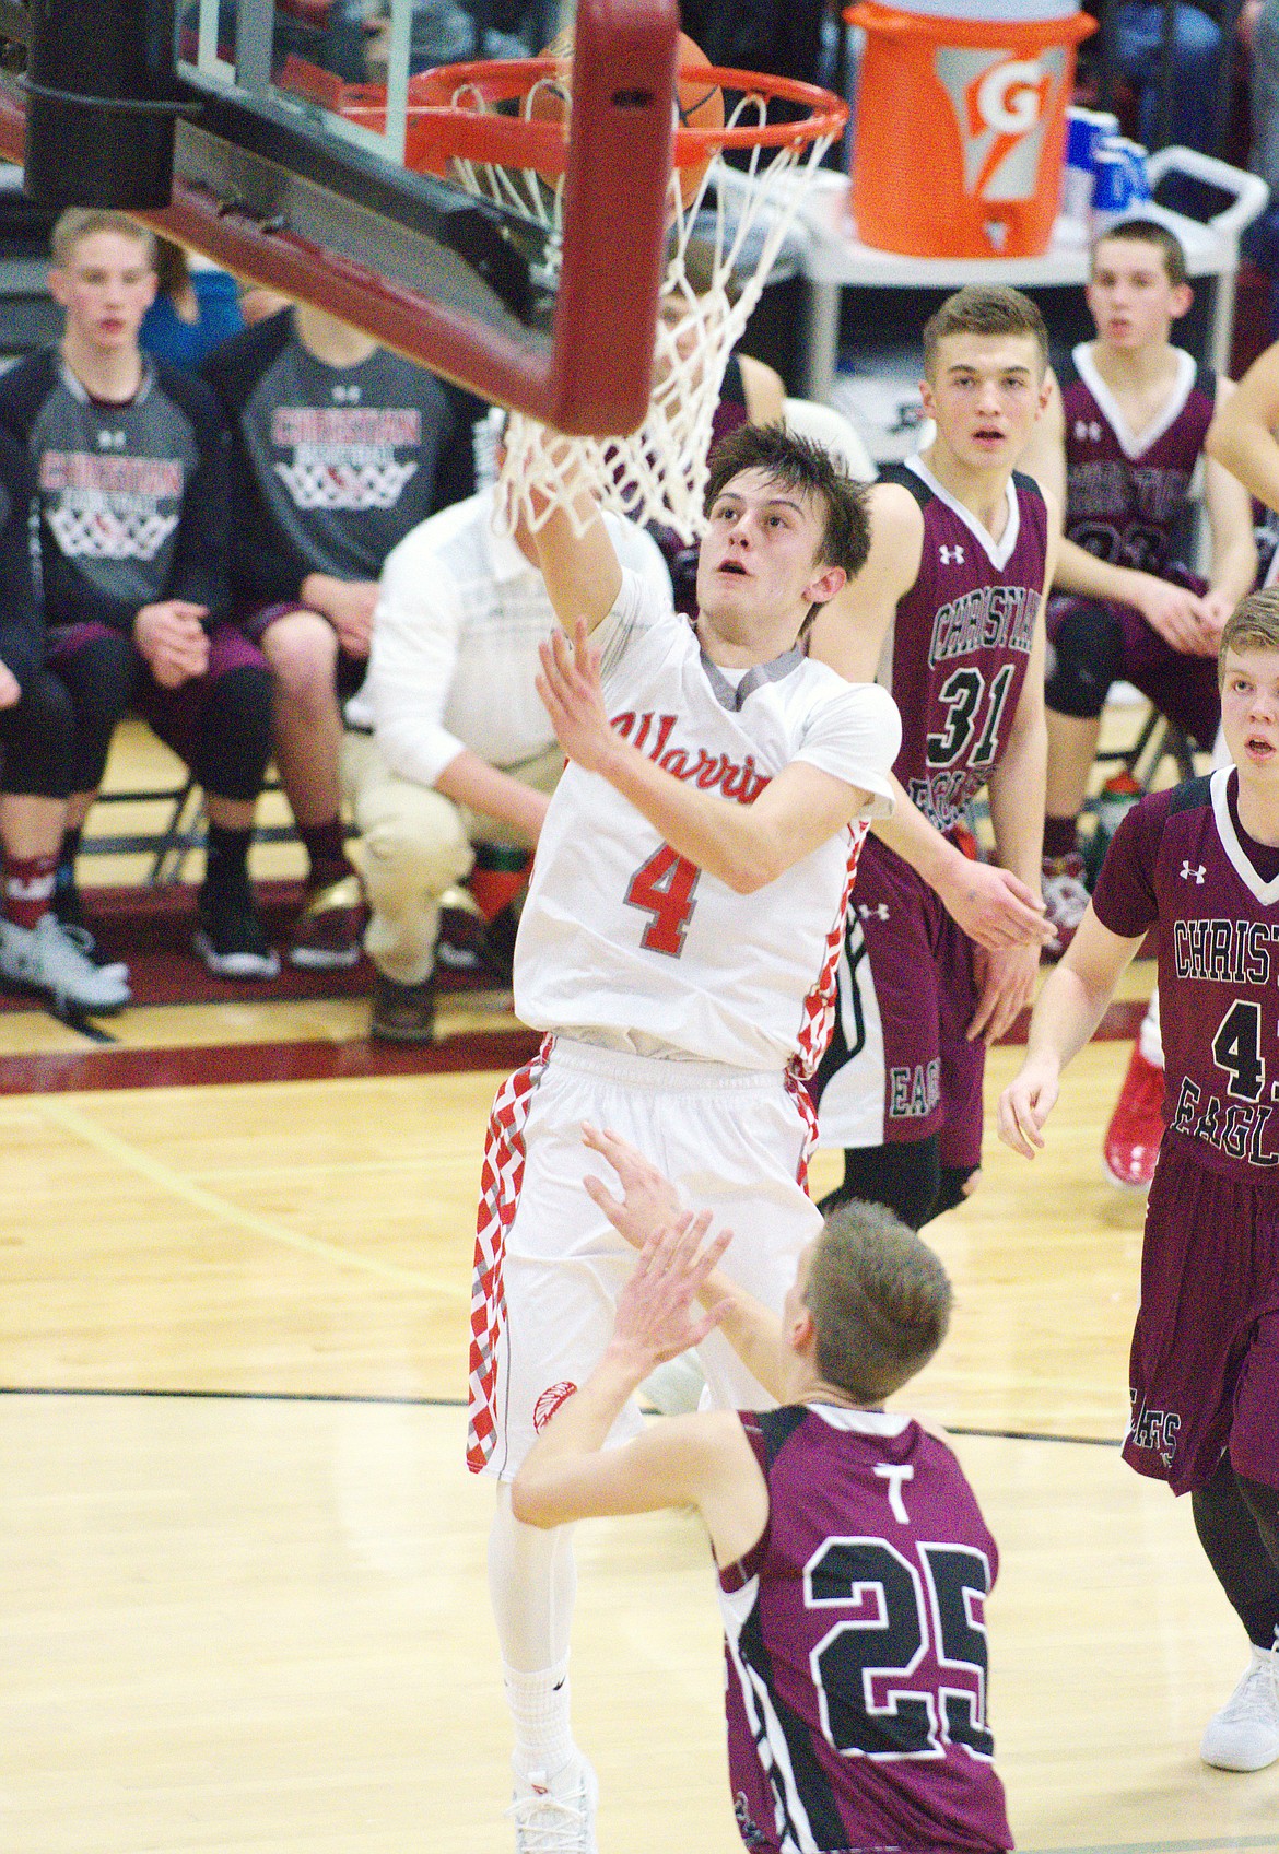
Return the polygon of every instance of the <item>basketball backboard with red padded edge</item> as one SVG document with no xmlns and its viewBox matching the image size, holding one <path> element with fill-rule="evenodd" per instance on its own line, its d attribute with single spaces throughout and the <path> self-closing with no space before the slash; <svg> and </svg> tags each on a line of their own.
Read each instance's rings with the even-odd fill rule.
<svg viewBox="0 0 1279 1854">
<path fill-rule="evenodd" d="M 651 391 L 677 6 L 582 0 L 571 121 L 549 130 L 567 146 L 562 222 L 547 234 L 450 182 L 447 126 L 415 82 L 441 63 L 539 50 L 560 26 L 554 0 L 523 4 L 178 0 L 172 204 L 145 217 L 486 399 L 562 432 L 628 432 Z M 24 11 L 6 0 L 0 39 L 17 43 Z M 85 11 L 87 30 L 108 11 L 96 24 Z M 100 115 L 104 135 L 120 121 L 93 70 L 37 95 Z M 7 82 L 0 154 L 15 161 L 26 108 L 20 78 Z"/>
</svg>

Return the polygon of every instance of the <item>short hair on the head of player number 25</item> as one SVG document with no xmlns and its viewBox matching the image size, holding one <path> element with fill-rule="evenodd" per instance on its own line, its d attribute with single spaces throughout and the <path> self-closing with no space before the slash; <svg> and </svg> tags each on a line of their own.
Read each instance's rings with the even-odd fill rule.
<svg viewBox="0 0 1279 1854">
<path fill-rule="evenodd" d="M 840 1203 L 814 1242 L 804 1305 L 821 1378 L 882 1403 L 921 1370 L 951 1324 L 945 1268 L 882 1203 Z"/>
</svg>

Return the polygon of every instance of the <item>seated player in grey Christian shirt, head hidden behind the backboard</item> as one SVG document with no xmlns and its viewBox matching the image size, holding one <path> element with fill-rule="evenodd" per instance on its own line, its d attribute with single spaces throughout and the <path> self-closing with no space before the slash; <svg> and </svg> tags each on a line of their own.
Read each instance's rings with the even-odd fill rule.
<svg viewBox="0 0 1279 1854">
<path fill-rule="evenodd" d="M 476 402 L 310 304 L 234 336 L 204 371 L 232 430 L 232 588 L 274 679 L 274 756 L 310 864 L 289 960 L 354 966 L 339 699 L 365 675 L 386 556 L 475 484 Z"/>
</svg>

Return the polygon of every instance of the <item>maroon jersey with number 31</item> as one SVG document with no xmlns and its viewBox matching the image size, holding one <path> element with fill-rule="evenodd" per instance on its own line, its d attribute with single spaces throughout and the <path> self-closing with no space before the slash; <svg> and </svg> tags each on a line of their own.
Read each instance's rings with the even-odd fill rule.
<svg viewBox="0 0 1279 1854">
<path fill-rule="evenodd" d="M 1038 484 L 1008 484 L 999 541 L 919 458 L 886 469 L 923 510 L 914 586 L 897 603 L 892 695 L 901 710 L 893 771 L 938 831 L 956 825 L 1007 745 L 1040 614 L 1047 508 Z"/>
</svg>

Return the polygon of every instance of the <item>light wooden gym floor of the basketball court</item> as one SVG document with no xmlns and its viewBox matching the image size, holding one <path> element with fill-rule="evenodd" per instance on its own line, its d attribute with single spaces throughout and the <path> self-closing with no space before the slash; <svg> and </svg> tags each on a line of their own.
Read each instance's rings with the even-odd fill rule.
<svg viewBox="0 0 1279 1854">
<path fill-rule="evenodd" d="M 1149 983 L 1134 966 L 1127 996 Z M 512 1033 L 502 1003 L 450 1022 L 469 1062 Z M 146 1085 L 0 1098 L 0 1850 L 508 1854 L 491 1491 L 462 1468 L 500 1068 L 358 1072 L 350 997 L 185 1009 L 111 1027 Z M 15 1059 L 83 1048 L 37 1010 L 0 1035 Z M 159 1085 L 174 1049 L 291 1038 L 354 1072 Z M 932 1229 L 958 1313 L 906 1402 L 955 1431 L 1001 1544 L 1018 1847 L 1279 1850 L 1279 1771 L 1196 1754 L 1238 1624 L 1186 1502 L 1116 1450 L 1142 1200 L 1099 1142 L 1127 1049 L 1084 1051 L 1034 1166 L 988 1135 L 981 1194 Z M 992 1101 L 1018 1059 L 994 1053 Z M 730 1854 L 697 1526 L 582 1526 L 578 1567 L 601 1854 Z"/>
</svg>

